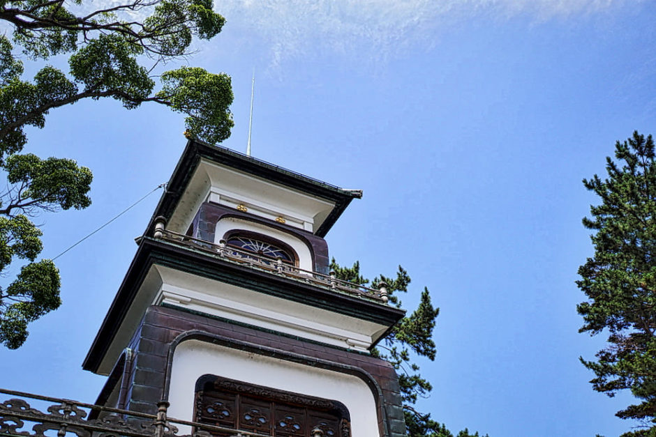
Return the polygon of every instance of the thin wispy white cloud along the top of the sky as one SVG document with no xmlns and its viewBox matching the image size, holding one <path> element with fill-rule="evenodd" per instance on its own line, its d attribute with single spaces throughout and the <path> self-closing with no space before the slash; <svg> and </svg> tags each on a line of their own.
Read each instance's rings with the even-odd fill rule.
<svg viewBox="0 0 656 437">
<path fill-rule="evenodd" d="M 385 59 L 430 44 L 445 24 L 486 14 L 532 22 L 589 15 L 636 0 L 224 0 L 216 3 L 239 33 L 257 37 L 271 62 L 331 52 Z"/>
</svg>

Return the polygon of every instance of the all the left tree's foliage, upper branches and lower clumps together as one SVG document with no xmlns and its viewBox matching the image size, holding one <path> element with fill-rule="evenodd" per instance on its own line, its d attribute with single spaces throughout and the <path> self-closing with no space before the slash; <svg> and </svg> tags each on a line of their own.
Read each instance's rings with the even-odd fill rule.
<svg viewBox="0 0 656 437">
<path fill-rule="evenodd" d="M 0 1 L 0 20 L 11 30 L 0 35 L 0 170 L 8 179 L 0 193 L 0 274 L 14 261 L 23 264 L 0 288 L 0 343 L 19 347 L 27 324 L 60 302 L 59 273 L 52 261 L 36 261 L 41 233 L 28 217 L 91 204 L 91 171 L 73 160 L 21 154 L 26 128 L 43 128 L 51 109 L 112 98 L 126 109 L 155 102 L 185 114 L 187 136 L 211 144 L 228 138 L 230 77 L 183 67 L 163 72 L 157 89 L 152 74 L 188 55 L 194 38 L 221 31 L 225 20 L 213 7 L 212 0 L 128 0 L 97 10 L 83 0 Z M 15 49 L 43 63 L 33 79 L 23 77 Z M 45 65 L 54 55 L 68 56 L 68 72 Z"/>
</svg>

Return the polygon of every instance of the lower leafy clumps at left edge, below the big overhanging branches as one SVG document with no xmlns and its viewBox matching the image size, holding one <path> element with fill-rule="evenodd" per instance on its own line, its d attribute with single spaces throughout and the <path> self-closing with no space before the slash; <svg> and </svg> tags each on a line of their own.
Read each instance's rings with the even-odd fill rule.
<svg viewBox="0 0 656 437">
<path fill-rule="evenodd" d="M 17 278 L 0 289 L 0 342 L 17 348 L 27 339 L 27 324 L 57 309 L 59 270 L 41 252 L 41 231 L 27 215 L 39 210 L 86 208 L 91 171 L 75 161 L 41 160 L 36 155 L 10 155 L 3 164 L 10 189 L 1 198 L 0 273 L 10 263 L 27 260 Z"/>
</svg>

